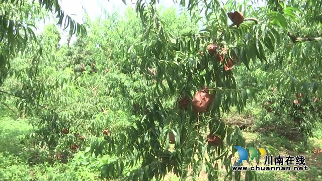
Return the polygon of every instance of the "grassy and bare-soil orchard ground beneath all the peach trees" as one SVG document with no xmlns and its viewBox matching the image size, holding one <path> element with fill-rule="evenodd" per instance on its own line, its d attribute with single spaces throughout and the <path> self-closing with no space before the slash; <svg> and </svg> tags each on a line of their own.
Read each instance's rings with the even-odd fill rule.
<svg viewBox="0 0 322 181">
<path fill-rule="evenodd" d="M 310 146 L 304 147 L 299 144 L 299 140 L 296 140 L 296 143 L 291 140 L 296 137 L 294 130 L 276 129 L 267 134 L 252 129 L 252 123 L 257 119 L 257 110 L 252 107 L 241 115 L 232 113 L 225 116 L 224 120 L 238 126 L 246 125 L 247 128 L 243 130 L 243 134 L 247 142 L 255 141 L 255 143 L 271 146 L 281 155 L 304 155 L 309 169 L 309 171 L 260 172 L 260 176 L 263 177 L 259 180 L 267 180 L 268 177 L 270 180 L 322 180 L 322 153 L 312 152 L 314 148 L 322 147 L 322 130 L 315 130 L 314 137 L 310 139 Z M 25 138 L 32 130 L 28 120 L 16 118 L 10 110 L 3 110 L 1 115 L 5 115 L 0 118 L 1 180 L 101 180 L 99 167 L 108 159 L 112 159 L 107 156 L 95 159 L 91 158 L 86 151 L 79 151 L 67 163 L 53 161 L 49 164 L 46 158 L 41 156 L 41 151 Z M 204 168 L 198 180 L 207 179 Z M 179 180 L 179 178 L 169 173 L 165 180 Z"/>
</svg>

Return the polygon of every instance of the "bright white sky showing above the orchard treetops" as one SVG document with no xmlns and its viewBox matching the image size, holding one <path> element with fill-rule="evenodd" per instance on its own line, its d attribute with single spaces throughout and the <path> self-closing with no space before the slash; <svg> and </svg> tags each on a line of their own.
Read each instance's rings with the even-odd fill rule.
<svg viewBox="0 0 322 181">
<path fill-rule="evenodd" d="M 224 0 L 227 1 L 227 0 Z M 238 0 L 236 0 L 238 1 Z M 241 1 L 241 0 L 239 0 Z M 260 0 L 261 1 L 261 0 Z M 135 2 L 131 3 L 131 0 L 126 0 L 125 5 L 121 0 L 60 0 L 60 6 L 62 10 L 69 15 L 73 20 L 75 20 L 77 23 L 83 23 L 83 16 L 84 16 L 84 7 L 87 11 L 87 14 L 89 15 L 91 20 L 96 19 L 100 14 L 101 10 L 105 9 L 107 12 L 113 12 L 113 10 L 118 10 L 118 12 L 124 12 L 124 10 L 127 8 L 127 6 L 131 6 L 133 9 L 135 9 Z M 187 0 L 188 3 L 188 0 Z M 264 1 L 260 2 L 257 6 L 264 5 Z M 164 8 L 169 8 L 175 6 L 176 8 L 179 8 L 178 4 L 175 4 L 173 0 L 160 0 L 159 6 L 163 6 Z M 46 24 L 50 23 L 56 23 L 57 20 L 50 20 L 49 22 L 46 22 L 45 24 L 42 24 L 39 26 L 39 29 L 36 31 L 37 33 L 41 32 Z M 67 29 L 68 30 L 68 29 Z M 63 30 L 60 30 L 62 34 L 62 39 L 60 40 L 60 44 L 64 43 L 67 40 L 67 33 L 64 33 Z M 75 35 L 71 38 L 71 42 L 73 42 L 76 39 Z"/>
</svg>

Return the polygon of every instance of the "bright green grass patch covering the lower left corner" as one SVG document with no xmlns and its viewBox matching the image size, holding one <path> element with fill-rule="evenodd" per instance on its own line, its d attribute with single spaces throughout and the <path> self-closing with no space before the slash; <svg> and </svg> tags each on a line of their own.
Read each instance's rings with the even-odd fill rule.
<svg viewBox="0 0 322 181">
<path fill-rule="evenodd" d="M 0 120 L 0 180 L 98 180 L 96 167 L 102 160 L 85 157 L 84 152 L 77 153 L 67 164 L 31 164 L 41 162 L 38 149 L 28 146 L 25 139 L 31 129 L 24 119 Z"/>
</svg>

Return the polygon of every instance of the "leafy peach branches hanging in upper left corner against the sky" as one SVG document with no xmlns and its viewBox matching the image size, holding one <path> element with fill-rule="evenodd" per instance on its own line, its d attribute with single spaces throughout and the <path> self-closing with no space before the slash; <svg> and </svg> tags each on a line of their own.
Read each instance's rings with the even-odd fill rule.
<svg viewBox="0 0 322 181">
<path fill-rule="evenodd" d="M 58 1 L 2 1 L 0 7 L 1 14 L 1 54 L 0 54 L 0 85 L 3 85 L 5 78 L 12 74 L 10 62 L 19 53 L 28 53 L 35 51 L 42 53 L 42 48 L 37 46 L 37 37 L 34 33 L 35 22 L 39 19 L 45 19 L 47 14 L 57 15 L 58 25 L 70 27 L 71 34 L 85 34 L 84 26 L 73 21 L 62 11 Z M 35 45 L 31 48 L 28 45 Z M 35 54 L 34 61 L 38 58 Z M 31 70 L 32 71 L 32 70 Z"/>
</svg>

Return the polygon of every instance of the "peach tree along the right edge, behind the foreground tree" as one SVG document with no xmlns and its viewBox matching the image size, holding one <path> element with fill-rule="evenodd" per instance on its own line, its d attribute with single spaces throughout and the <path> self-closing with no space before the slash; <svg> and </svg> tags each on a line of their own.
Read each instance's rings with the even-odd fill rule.
<svg viewBox="0 0 322 181">
<path fill-rule="evenodd" d="M 320 123 L 319 102 L 319 28 L 318 2 L 280 2 L 268 5 L 272 12 L 279 12 L 285 19 L 284 33 L 267 32 L 271 38 L 265 42 L 265 61 L 253 61 L 251 72 L 246 67 L 235 71 L 240 86 L 258 90 L 263 108 L 258 126 L 296 127 L 302 141 L 307 143 Z M 308 25 L 309 22 L 309 26 Z M 261 26 L 262 30 L 267 27 Z M 278 30 L 277 30 L 278 31 Z M 273 46 L 272 46 L 273 45 Z"/>
</svg>

